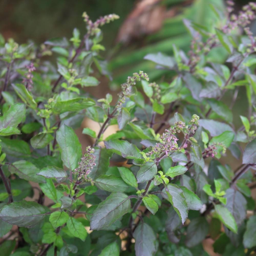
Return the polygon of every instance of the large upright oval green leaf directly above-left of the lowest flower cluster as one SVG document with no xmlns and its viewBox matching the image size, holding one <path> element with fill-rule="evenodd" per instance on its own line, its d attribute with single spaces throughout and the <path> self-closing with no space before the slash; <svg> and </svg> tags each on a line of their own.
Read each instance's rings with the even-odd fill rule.
<svg viewBox="0 0 256 256">
<path fill-rule="evenodd" d="M 56 140 L 61 148 L 61 159 L 65 166 L 74 170 L 82 155 L 82 147 L 74 130 L 62 125 L 56 132 Z"/>
</svg>

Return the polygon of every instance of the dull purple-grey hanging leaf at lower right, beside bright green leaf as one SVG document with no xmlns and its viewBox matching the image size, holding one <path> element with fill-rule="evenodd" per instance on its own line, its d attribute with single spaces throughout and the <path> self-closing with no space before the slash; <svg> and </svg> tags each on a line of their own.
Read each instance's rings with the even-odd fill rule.
<svg viewBox="0 0 256 256">
<path fill-rule="evenodd" d="M 226 190 L 225 197 L 227 198 L 226 208 L 233 215 L 237 225 L 240 225 L 246 218 L 246 199 L 239 191 L 233 188 Z"/>
</svg>

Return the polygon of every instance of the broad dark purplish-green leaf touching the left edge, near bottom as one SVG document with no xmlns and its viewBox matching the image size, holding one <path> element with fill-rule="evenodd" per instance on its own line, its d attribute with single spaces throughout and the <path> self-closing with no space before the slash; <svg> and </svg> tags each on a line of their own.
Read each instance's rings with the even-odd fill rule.
<svg viewBox="0 0 256 256">
<path fill-rule="evenodd" d="M 12 225 L 31 228 L 45 218 L 45 209 L 36 202 L 22 200 L 5 205 L 0 218 Z"/>
</svg>

